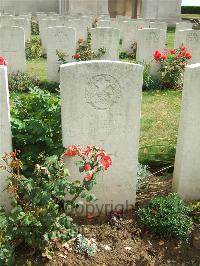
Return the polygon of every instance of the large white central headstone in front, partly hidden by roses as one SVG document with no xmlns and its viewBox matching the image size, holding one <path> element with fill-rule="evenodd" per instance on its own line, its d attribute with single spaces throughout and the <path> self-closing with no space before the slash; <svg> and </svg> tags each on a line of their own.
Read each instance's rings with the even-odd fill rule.
<svg viewBox="0 0 200 266">
<path fill-rule="evenodd" d="M 61 66 L 63 146 L 101 146 L 113 161 L 97 177 L 96 214 L 97 208 L 105 213 L 105 204 L 108 211 L 111 205 L 127 209 L 135 204 L 142 83 L 143 67 L 136 64 L 88 61 Z M 68 163 L 74 179 L 77 167 Z"/>
</svg>

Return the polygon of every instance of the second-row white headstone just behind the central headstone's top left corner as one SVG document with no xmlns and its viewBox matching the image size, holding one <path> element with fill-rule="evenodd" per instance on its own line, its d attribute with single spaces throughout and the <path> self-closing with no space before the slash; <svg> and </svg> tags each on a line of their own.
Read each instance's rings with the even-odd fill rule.
<svg viewBox="0 0 200 266">
<path fill-rule="evenodd" d="M 47 67 L 48 80 L 60 81 L 60 62 L 56 50 L 64 52 L 67 62 L 72 62 L 72 56 L 76 53 L 76 35 L 73 28 L 52 27 L 47 33 Z"/>
</svg>

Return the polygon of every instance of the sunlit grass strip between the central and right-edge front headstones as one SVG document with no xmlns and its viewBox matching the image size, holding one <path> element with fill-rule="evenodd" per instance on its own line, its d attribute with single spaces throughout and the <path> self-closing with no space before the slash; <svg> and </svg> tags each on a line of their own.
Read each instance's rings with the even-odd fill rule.
<svg viewBox="0 0 200 266">
<path fill-rule="evenodd" d="M 180 91 L 143 92 L 139 160 L 169 164 L 174 160 L 181 106 Z"/>
</svg>

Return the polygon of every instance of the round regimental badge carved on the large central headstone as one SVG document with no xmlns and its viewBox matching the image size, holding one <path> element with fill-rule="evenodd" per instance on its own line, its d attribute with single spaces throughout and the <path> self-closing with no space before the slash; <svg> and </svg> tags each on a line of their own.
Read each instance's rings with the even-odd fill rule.
<svg viewBox="0 0 200 266">
<path fill-rule="evenodd" d="M 119 82 L 112 76 L 101 74 L 93 76 L 85 91 L 86 102 L 93 108 L 104 110 L 118 103 L 121 97 Z"/>
</svg>

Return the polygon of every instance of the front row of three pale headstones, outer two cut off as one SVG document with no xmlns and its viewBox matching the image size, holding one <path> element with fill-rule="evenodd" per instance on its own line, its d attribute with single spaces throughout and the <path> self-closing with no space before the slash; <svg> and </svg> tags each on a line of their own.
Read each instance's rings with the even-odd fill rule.
<svg viewBox="0 0 200 266">
<path fill-rule="evenodd" d="M 97 201 L 90 204 L 90 211 L 132 208 L 136 201 L 143 67 L 89 61 L 62 65 L 60 75 L 63 146 L 102 146 L 113 161 L 112 168 L 97 178 Z M 188 66 L 173 180 L 174 190 L 186 200 L 200 198 L 199 83 L 200 64 Z M 6 67 L 0 66 L 0 153 L 11 148 L 7 73 Z M 73 163 L 68 160 L 67 167 L 77 178 Z M 0 176 L 3 190 L 6 173 L 0 172 Z M 8 206 L 5 192 L 0 193 L 0 203 Z"/>
</svg>

